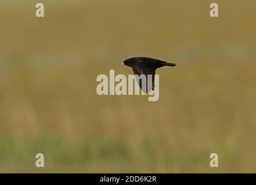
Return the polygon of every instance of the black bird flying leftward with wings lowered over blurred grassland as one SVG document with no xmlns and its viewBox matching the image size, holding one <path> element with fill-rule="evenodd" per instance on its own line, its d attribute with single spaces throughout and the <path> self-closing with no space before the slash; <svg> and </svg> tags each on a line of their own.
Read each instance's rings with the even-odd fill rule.
<svg viewBox="0 0 256 185">
<path fill-rule="evenodd" d="M 154 75 L 156 73 L 157 68 L 161 68 L 163 66 L 175 66 L 176 64 L 168 63 L 165 61 L 157 60 L 149 57 L 133 57 L 125 60 L 121 65 L 127 65 L 132 68 L 135 75 L 145 75 L 146 76 L 146 86 L 147 86 L 147 75 L 152 75 L 152 83 L 150 84 L 152 88 L 147 89 L 148 87 L 142 88 L 142 80 L 139 80 L 136 77 L 137 82 L 139 83 L 139 87 L 144 92 L 150 92 L 154 90 Z"/>
</svg>

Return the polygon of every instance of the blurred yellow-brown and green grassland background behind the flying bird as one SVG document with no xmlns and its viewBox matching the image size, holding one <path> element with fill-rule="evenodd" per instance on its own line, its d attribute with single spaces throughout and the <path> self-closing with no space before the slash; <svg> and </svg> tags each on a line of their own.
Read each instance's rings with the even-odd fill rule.
<svg viewBox="0 0 256 185">
<path fill-rule="evenodd" d="M 42 2 L 0 2 L 0 172 L 256 172 L 256 1 Z M 134 56 L 159 100 L 97 95 Z"/>
</svg>

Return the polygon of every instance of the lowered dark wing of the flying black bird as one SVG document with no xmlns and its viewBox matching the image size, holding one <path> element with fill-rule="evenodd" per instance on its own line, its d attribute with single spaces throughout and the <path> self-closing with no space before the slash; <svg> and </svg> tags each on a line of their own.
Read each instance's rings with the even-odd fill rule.
<svg viewBox="0 0 256 185">
<path fill-rule="evenodd" d="M 156 69 L 147 68 L 143 64 L 134 65 L 132 69 L 134 71 L 134 74 L 138 75 L 135 76 L 135 78 L 143 92 L 147 93 L 154 90 L 154 75 L 156 73 Z M 147 75 L 152 75 L 152 78 L 150 79 L 150 77 Z M 146 84 L 146 87 L 142 87 L 143 84 Z"/>
</svg>

